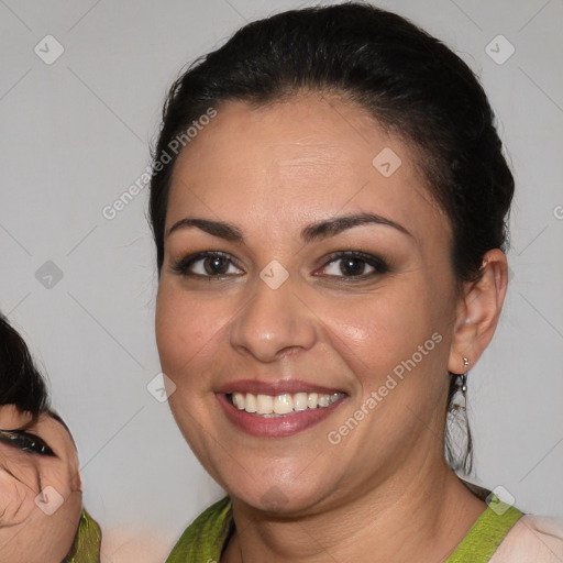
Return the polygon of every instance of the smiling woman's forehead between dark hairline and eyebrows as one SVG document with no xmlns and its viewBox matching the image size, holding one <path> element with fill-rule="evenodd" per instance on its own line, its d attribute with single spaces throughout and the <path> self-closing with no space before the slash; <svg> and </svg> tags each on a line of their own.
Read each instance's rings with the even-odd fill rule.
<svg viewBox="0 0 563 563">
<path fill-rule="evenodd" d="M 357 106 L 319 93 L 260 108 L 225 102 L 180 153 L 167 227 L 196 212 L 240 222 L 242 209 L 257 229 L 373 211 L 427 238 L 448 231 L 410 146 Z"/>
</svg>

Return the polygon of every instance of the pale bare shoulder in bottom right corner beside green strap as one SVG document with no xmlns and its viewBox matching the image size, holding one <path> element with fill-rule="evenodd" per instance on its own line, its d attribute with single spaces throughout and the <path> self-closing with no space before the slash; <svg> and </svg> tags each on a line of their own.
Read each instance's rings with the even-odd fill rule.
<svg viewBox="0 0 563 563">
<path fill-rule="evenodd" d="M 490 563 L 561 563 L 563 520 L 525 515 L 510 529 Z"/>
</svg>

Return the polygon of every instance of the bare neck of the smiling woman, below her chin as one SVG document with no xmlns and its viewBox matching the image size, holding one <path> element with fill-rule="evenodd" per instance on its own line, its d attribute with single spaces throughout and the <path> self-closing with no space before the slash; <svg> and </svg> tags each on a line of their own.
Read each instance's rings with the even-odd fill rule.
<svg viewBox="0 0 563 563">
<path fill-rule="evenodd" d="M 321 512 L 285 520 L 233 498 L 236 530 L 221 561 L 244 563 L 437 563 L 485 510 L 442 459 L 411 464 Z"/>
</svg>

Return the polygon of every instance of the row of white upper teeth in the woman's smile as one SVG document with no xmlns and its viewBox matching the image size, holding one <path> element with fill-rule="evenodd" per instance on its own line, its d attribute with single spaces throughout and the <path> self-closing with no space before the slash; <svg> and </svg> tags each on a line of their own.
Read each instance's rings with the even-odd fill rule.
<svg viewBox="0 0 563 563">
<path fill-rule="evenodd" d="M 284 416 L 291 412 L 299 412 L 307 409 L 329 407 L 336 402 L 344 394 L 334 393 L 323 395 L 318 393 L 296 393 L 294 395 L 284 393 L 276 395 L 253 395 L 252 393 L 233 393 L 232 404 L 239 410 L 263 416 Z"/>
</svg>

